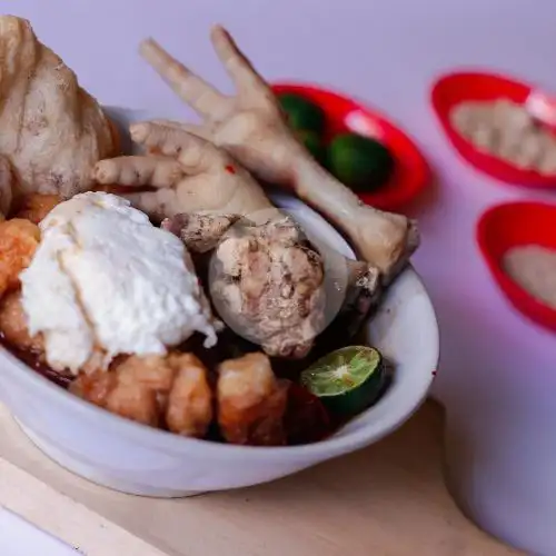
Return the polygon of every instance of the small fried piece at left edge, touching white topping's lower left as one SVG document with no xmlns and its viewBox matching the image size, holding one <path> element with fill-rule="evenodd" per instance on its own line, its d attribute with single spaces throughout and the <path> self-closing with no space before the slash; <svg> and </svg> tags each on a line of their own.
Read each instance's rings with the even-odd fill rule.
<svg viewBox="0 0 556 556">
<path fill-rule="evenodd" d="M 0 300 L 0 332 L 14 348 L 32 351 L 43 358 L 44 340 L 41 335 L 31 337 L 29 334 L 19 290 L 8 292 Z"/>
</svg>

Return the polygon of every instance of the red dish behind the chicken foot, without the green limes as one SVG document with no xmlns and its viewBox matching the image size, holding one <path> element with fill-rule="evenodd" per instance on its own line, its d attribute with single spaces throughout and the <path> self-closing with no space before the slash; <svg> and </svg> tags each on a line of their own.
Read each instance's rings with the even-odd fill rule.
<svg viewBox="0 0 556 556">
<path fill-rule="evenodd" d="M 275 93 L 295 93 L 320 106 L 326 115 L 325 141 L 336 133 L 354 131 L 383 142 L 396 159 L 390 181 L 359 198 L 383 210 L 394 210 L 417 197 L 430 182 L 428 165 L 415 142 L 377 110 L 317 86 L 275 83 Z"/>
</svg>

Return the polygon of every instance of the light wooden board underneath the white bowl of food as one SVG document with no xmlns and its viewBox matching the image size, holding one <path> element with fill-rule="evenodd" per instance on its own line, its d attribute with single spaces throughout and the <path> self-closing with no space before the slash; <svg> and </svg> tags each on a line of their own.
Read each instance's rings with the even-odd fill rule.
<svg viewBox="0 0 556 556">
<path fill-rule="evenodd" d="M 133 497 L 59 468 L 0 407 L 0 504 L 88 556 L 508 556 L 441 476 L 441 410 L 286 479 L 180 500 Z"/>
</svg>

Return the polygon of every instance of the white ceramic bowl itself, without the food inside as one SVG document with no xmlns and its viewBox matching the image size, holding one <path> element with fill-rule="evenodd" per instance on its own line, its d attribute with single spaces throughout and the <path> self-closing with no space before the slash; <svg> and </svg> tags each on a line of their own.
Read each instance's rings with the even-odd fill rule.
<svg viewBox="0 0 556 556">
<path fill-rule="evenodd" d="M 111 111 L 120 121 L 152 117 Z M 290 197 L 309 232 L 347 256 L 349 246 L 319 215 Z M 424 400 L 438 361 L 435 311 L 419 277 L 408 268 L 368 324 L 368 342 L 396 367 L 395 380 L 371 408 L 332 437 L 305 446 L 244 447 L 182 438 L 88 404 L 0 348 L 0 396 L 23 431 L 48 456 L 93 483 L 125 493 L 179 497 L 277 479 L 363 448 L 399 427 Z"/>
</svg>

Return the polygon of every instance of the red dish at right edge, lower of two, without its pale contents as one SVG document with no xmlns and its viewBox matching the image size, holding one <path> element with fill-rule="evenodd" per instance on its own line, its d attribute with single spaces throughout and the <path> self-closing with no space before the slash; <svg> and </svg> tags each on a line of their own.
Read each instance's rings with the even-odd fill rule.
<svg viewBox="0 0 556 556">
<path fill-rule="evenodd" d="M 478 221 L 477 241 L 508 300 L 530 320 L 556 331 L 556 310 L 517 285 L 502 264 L 504 255 L 516 246 L 536 244 L 556 249 L 556 205 L 525 201 L 492 207 Z"/>
</svg>

